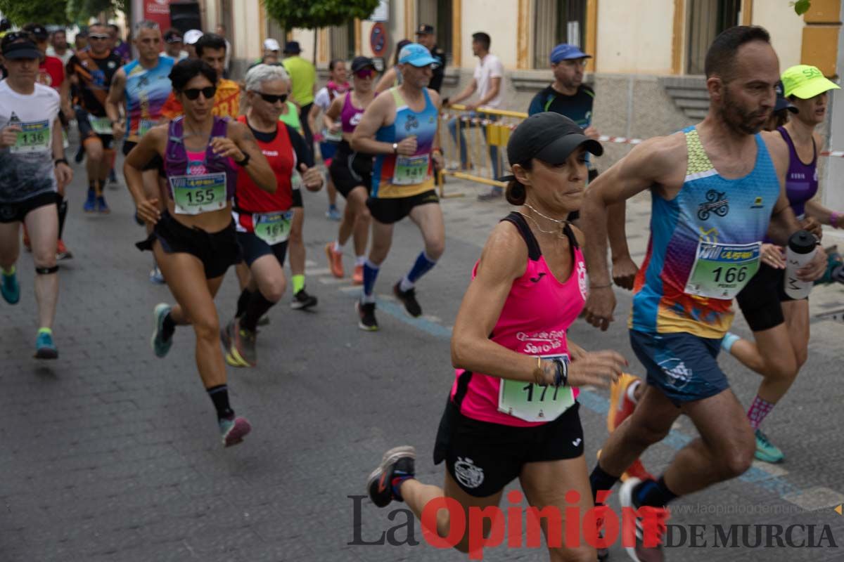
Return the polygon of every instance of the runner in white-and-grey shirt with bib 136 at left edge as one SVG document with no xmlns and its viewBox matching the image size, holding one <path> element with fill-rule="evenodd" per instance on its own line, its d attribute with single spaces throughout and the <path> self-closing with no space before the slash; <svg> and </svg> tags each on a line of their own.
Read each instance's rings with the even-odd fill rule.
<svg viewBox="0 0 844 562">
<path fill-rule="evenodd" d="M 52 325 L 58 300 L 56 196 L 73 179 L 64 159 L 60 99 L 37 83 L 41 51 L 27 31 L 0 41 L 8 78 L 0 82 L 0 293 L 9 304 L 20 298 L 15 263 L 20 254 L 19 224 L 29 228 L 35 262 L 38 335 L 35 357 L 56 359 Z"/>
</svg>

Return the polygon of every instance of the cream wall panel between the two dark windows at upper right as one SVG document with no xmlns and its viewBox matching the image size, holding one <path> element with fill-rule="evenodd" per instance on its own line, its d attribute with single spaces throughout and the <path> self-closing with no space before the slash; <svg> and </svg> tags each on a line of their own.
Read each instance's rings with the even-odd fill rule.
<svg viewBox="0 0 844 562">
<path fill-rule="evenodd" d="M 601 0 L 596 71 L 670 74 L 673 37 L 673 0 Z"/>
</svg>

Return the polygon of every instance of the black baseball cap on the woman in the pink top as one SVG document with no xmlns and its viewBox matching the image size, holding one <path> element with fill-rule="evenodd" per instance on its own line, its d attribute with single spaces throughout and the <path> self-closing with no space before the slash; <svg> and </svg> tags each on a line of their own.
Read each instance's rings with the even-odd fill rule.
<svg viewBox="0 0 844 562">
<path fill-rule="evenodd" d="M 561 164 L 580 146 L 595 156 L 603 154 L 601 143 L 584 135 L 573 120 L 553 111 L 544 111 L 531 115 L 516 127 L 507 142 L 507 159 L 511 164 L 526 163 L 532 158 Z M 511 175 L 499 178 L 500 181 L 511 179 Z"/>
</svg>

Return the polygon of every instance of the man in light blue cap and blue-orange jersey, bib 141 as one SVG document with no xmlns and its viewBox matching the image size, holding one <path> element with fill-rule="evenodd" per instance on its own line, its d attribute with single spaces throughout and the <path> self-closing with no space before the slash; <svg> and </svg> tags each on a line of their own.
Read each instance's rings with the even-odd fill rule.
<svg viewBox="0 0 844 562">
<path fill-rule="evenodd" d="M 442 165 L 436 134 L 440 95 L 428 88 L 435 64 L 436 59 L 424 46 L 406 45 L 398 56 L 402 85 L 373 100 L 352 134 L 352 150 L 376 155 L 372 190 L 366 202 L 372 216 L 372 247 L 364 264 L 363 291 L 356 303 L 360 329 L 378 329 L 375 281 L 390 251 L 396 222 L 410 217 L 425 241 L 425 249 L 408 274 L 392 287 L 392 294 L 414 318 L 422 315 L 415 283 L 433 269 L 446 248 L 446 227 L 433 176 L 435 160 Z"/>
</svg>

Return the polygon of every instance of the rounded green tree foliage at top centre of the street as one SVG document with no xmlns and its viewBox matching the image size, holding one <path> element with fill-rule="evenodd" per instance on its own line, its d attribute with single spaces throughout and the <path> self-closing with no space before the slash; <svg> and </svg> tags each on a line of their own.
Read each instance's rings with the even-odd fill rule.
<svg viewBox="0 0 844 562">
<path fill-rule="evenodd" d="M 317 29 L 343 25 L 351 19 L 366 19 L 378 7 L 378 0 L 263 0 L 268 15 L 284 29 Z"/>
</svg>

